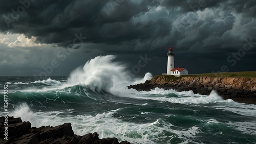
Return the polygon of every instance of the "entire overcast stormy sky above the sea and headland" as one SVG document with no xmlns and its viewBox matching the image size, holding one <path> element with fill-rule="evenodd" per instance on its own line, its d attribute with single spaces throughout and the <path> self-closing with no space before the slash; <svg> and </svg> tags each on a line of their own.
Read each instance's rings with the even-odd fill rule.
<svg viewBox="0 0 256 144">
<path fill-rule="evenodd" d="M 255 17 L 255 0 L 0 1 L 0 76 L 68 76 L 99 55 L 158 75 L 169 46 L 189 74 L 256 71 Z"/>
</svg>

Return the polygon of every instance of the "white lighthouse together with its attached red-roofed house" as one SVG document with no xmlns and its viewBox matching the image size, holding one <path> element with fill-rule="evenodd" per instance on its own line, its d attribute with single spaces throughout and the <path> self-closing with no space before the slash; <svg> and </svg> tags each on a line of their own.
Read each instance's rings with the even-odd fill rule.
<svg viewBox="0 0 256 144">
<path fill-rule="evenodd" d="M 170 47 L 168 49 L 168 53 L 167 53 L 167 74 L 166 75 L 173 75 L 176 77 L 180 77 L 182 75 L 188 75 L 188 71 L 185 67 L 183 68 L 174 68 L 174 53 L 173 53 L 173 49 L 172 47 Z"/>
</svg>

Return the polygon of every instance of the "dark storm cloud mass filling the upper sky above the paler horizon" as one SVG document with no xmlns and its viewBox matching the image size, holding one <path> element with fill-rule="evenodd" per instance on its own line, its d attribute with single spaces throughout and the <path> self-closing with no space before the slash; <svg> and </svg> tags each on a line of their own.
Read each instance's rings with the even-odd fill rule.
<svg viewBox="0 0 256 144">
<path fill-rule="evenodd" d="M 165 57 L 167 47 L 172 45 L 177 55 L 202 61 L 203 66 L 220 59 L 221 64 L 215 66 L 219 68 L 229 55 L 243 48 L 245 39 L 256 41 L 254 0 L 34 0 L 15 19 L 12 9 L 17 11 L 19 6 L 22 4 L 18 1 L 0 1 L 2 33 L 34 36 L 38 43 L 63 47 L 82 36 L 88 45 L 75 49 L 85 52 L 96 49 L 104 54 Z M 13 19 L 9 27 L 8 18 Z M 250 53 L 255 53 L 254 48 Z M 244 64 L 251 62 L 253 55 L 247 54 L 243 60 Z"/>
</svg>

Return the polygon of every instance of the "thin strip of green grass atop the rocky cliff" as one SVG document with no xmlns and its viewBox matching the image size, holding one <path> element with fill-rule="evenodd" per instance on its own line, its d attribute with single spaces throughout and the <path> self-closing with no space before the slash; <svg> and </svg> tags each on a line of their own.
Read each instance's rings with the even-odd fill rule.
<svg viewBox="0 0 256 144">
<path fill-rule="evenodd" d="M 239 71 L 239 72 L 229 72 L 229 73 L 207 73 L 207 74 L 197 74 L 197 75 L 186 75 L 181 77 L 157 75 L 155 77 L 165 76 L 167 79 L 178 80 L 182 77 L 229 77 L 229 78 L 256 78 L 256 71 Z"/>
</svg>

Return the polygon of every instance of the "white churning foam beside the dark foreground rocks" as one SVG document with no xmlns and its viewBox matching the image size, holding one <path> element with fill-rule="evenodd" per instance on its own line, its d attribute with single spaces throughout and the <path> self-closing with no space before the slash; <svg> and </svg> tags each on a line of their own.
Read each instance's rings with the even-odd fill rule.
<svg viewBox="0 0 256 144">
<path fill-rule="evenodd" d="M 75 134 L 84 135 L 97 132 L 99 137 L 117 137 L 118 140 L 128 140 L 132 143 L 156 143 L 169 136 L 164 135 L 166 131 L 172 131 L 175 135 L 185 141 L 193 142 L 190 138 L 200 132 L 198 127 L 191 127 L 183 130 L 172 130 L 174 125 L 157 119 L 156 122 L 147 124 L 135 124 L 123 122 L 121 119 L 113 117 L 113 114 L 120 109 L 98 113 L 92 115 L 67 115 L 65 118 L 59 114 L 67 111 L 33 112 L 27 104 L 22 104 L 10 115 L 21 117 L 23 121 L 29 121 L 32 127 L 57 126 L 63 123 L 71 123 Z M 70 112 L 70 110 L 68 110 Z M 146 113 L 141 113 L 146 114 Z M 176 137 L 175 135 L 171 137 Z M 171 139 L 169 139 L 171 140 Z"/>
</svg>

